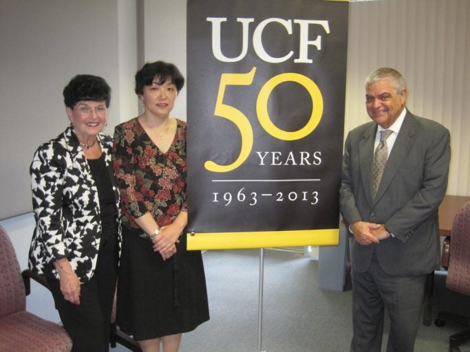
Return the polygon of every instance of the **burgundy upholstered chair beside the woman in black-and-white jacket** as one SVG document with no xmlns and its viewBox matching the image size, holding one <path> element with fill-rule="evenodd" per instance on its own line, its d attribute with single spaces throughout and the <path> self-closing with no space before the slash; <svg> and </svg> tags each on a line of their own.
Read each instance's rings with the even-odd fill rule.
<svg viewBox="0 0 470 352">
<path fill-rule="evenodd" d="M 0 225 L 0 352 L 67 352 L 72 349 L 72 340 L 63 327 L 31 314 L 25 307 L 25 283 L 17 255 Z"/>
</svg>

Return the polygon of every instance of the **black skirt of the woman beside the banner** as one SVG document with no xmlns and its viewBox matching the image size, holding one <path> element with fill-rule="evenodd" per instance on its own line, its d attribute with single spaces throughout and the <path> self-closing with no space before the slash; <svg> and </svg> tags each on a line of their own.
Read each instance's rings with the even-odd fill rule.
<svg viewBox="0 0 470 352">
<path fill-rule="evenodd" d="M 200 251 L 186 250 L 186 232 L 167 261 L 142 230 L 122 228 L 116 322 L 136 340 L 192 331 L 209 320 Z"/>
</svg>

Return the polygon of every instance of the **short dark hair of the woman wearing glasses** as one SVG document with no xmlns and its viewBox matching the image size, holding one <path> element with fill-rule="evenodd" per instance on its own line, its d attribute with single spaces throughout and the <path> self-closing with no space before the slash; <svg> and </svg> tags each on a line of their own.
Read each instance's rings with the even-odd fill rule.
<svg viewBox="0 0 470 352">
<path fill-rule="evenodd" d="M 63 98 L 66 107 L 73 109 L 77 102 L 89 100 L 100 102 L 105 100 L 106 107 L 111 102 L 111 87 L 106 81 L 91 74 L 78 74 L 63 89 Z"/>
</svg>

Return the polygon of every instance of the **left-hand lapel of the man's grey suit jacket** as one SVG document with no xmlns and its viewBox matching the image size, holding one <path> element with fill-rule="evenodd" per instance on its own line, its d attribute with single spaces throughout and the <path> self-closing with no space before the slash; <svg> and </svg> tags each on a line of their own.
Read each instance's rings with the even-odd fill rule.
<svg viewBox="0 0 470 352">
<path fill-rule="evenodd" d="M 363 140 L 359 142 L 359 164 L 365 190 L 365 197 L 372 203 L 372 166 L 374 165 L 374 142 L 377 132 L 377 125 L 371 122 L 370 127 L 365 131 Z"/>
</svg>

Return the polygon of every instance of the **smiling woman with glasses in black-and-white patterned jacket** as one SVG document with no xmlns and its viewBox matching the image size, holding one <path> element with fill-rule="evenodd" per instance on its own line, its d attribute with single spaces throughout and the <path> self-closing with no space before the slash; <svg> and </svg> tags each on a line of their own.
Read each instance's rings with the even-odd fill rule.
<svg viewBox="0 0 470 352">
<path fill-rule="evenodd" d="M 78 75 L 63 90 L 71 125 L 30 167 L 36 228 L 30 269 L 46 276 L 72 351 L 108 351 L 120 252 L 119 192 L 107 124 L 111 89 Z"/>
</svg>

